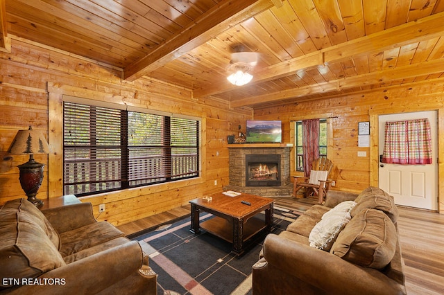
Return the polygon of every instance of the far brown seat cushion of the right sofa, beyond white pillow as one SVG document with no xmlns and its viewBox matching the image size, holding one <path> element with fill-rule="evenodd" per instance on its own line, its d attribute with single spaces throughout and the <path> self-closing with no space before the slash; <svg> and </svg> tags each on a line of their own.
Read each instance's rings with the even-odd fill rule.
<svg viewBox="0 0 444 295">
<path fill-rule="evenodd" d="M 300 215 L 297 220 L 291 222 L 287 226 L 287 231 L 292 233 L 298 233 L 305 237 L 309 237 L 311 229 L 321 220 L 325 212 L 329 211 L 331 208 L 327 208 L 321 205 L 311 206 L 304 214 Z"/>
</svg>

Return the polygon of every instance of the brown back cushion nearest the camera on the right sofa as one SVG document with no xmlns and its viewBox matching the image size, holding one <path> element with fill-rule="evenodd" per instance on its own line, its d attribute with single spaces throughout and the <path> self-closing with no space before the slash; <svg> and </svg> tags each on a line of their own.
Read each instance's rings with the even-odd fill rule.
<svg viewBox="0 0 444 295">
<path fill-rule="evenodd" d="M 339 233 L 330 253 L 362 267 L 382 269 L 393 259 L 397 241 L 390 218 L 382 211 L 366 209 Z"/>
</svg>

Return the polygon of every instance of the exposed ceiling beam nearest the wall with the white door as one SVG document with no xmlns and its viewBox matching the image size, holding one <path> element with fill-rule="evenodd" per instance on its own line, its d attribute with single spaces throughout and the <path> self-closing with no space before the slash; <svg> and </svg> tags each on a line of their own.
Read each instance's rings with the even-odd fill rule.
<svg viewBox="0 0 444 295">
<path fill-rule="evenodd" d="M 373 73 L 366 73 L 354 77 L 348 77 L 329 82 L 308 85 L 286 91 L 278 91 L 274 93 L 267 93 L 262 96 L 252 96 L 249 98 L 242 98 L 230 102 L 230 108 L 244 107 L 248 105 L 255 105 L 263 102 L 271 102 L 275 100 L 287 100 L 291 98 L 300 98 L 302 96 L 314 94 L 328 94 L 331 91 L 341 91 L 345 89 L 361 87 L 372 84 L 383 84 L 391 82 L 392 80 L 402 80 L 420 75 L 430 75 L 433 73 L 441 73 L 444 68 L 444 59 L 432 60 L 429 62 L 419 62 L 417 64 L 410 64 L 408 66 L 400 66 L 395 69 L 377 71 Z"/>
</svg>

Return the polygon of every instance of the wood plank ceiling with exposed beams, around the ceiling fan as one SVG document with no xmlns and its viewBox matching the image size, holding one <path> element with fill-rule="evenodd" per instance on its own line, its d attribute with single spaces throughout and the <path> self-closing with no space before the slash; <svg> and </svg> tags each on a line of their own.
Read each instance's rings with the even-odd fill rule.
<svg viewBox="0 0 444 295">
<path fill-rule="evenodd" d="M 123 79 L 264 108 L 444 78 L 444 0 L 0 0 L 20 37 L 109 64 Z M 253 81 L 226 77 L 236 46 Z"/>
</svg>

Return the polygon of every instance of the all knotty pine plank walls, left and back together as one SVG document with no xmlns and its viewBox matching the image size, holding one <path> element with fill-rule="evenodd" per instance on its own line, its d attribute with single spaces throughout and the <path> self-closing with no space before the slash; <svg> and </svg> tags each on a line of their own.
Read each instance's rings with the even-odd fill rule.
<svg viewBox="0 0 444 295">
<path fill-rule="evenodd" d="M 338 168 L 335 189 L 359 191 L 370 184 L 377 185 L 377 140 L 373 136 L 375 130 L 372 127 L 370 147 L 358 147 L 358 123 L 373 123 L 377 114 L 436 109 L 439 114 L 440 134 L 439 172 L 444 175 L 444 143 L 441 139 L 444 138 L 441 136 L 444 133 L 443 79 L 267 107 L 255 110 L 253 116 L 251 109 L 229 109 L 227 103 L 211 98 L 197 100 L 192 97 L 189 89 L 171 84 L 146 79 L 122 82 L 121 69 L 18 38 L 12 39 L 12 53 L 0 53 L 0 66 L 0 204 L 8 199 L 24 197 L 19 186 L 17 165 L 26 162 L 28 157 L 6 153 L 17 129 L 33 125 L 34 129 L 40 129 L 46 134 L 51 146 L 60 150 L 61 121 L 60 112 L 56 109 L 60 108 L 57 100 L 62 94 L 127 103 L 205 119 L 205 170 L 200 181 L 150 186 L 83 198 L 83 202 L 92 202 L 96 216 L 99 215 L 99 204 L 105 204 L 105 213 L 100 215 L 99 220 L 108 220 L 116 225 L 187 204 L 189 199 L 220 191 L 222 186 L 228 185 L 227 135 L 237 134 L 238 125 L 245 131 L 245 121 L 253 117 L 282 120 L 283 140 L 285 143 L 292 143 L 292 121 L 330 116 L 329 157 Z M 367 152 L 367 157 L 357 157 L 358 151 Z M 37 161 L 46 164 L 44 182 L 37 195 L 41 199 L 62 194 L 62 164 L 58 157 L 60 154 L 53 151 L 49 156 L 36 155 Z M 291 166 L 294 167 L 293 163 Z M 295 174 L 292 172 L 292 175 Z M 440 186 L 439 190 L 440 211 L 443 212 L 443 187 Z"/>
</svg>

